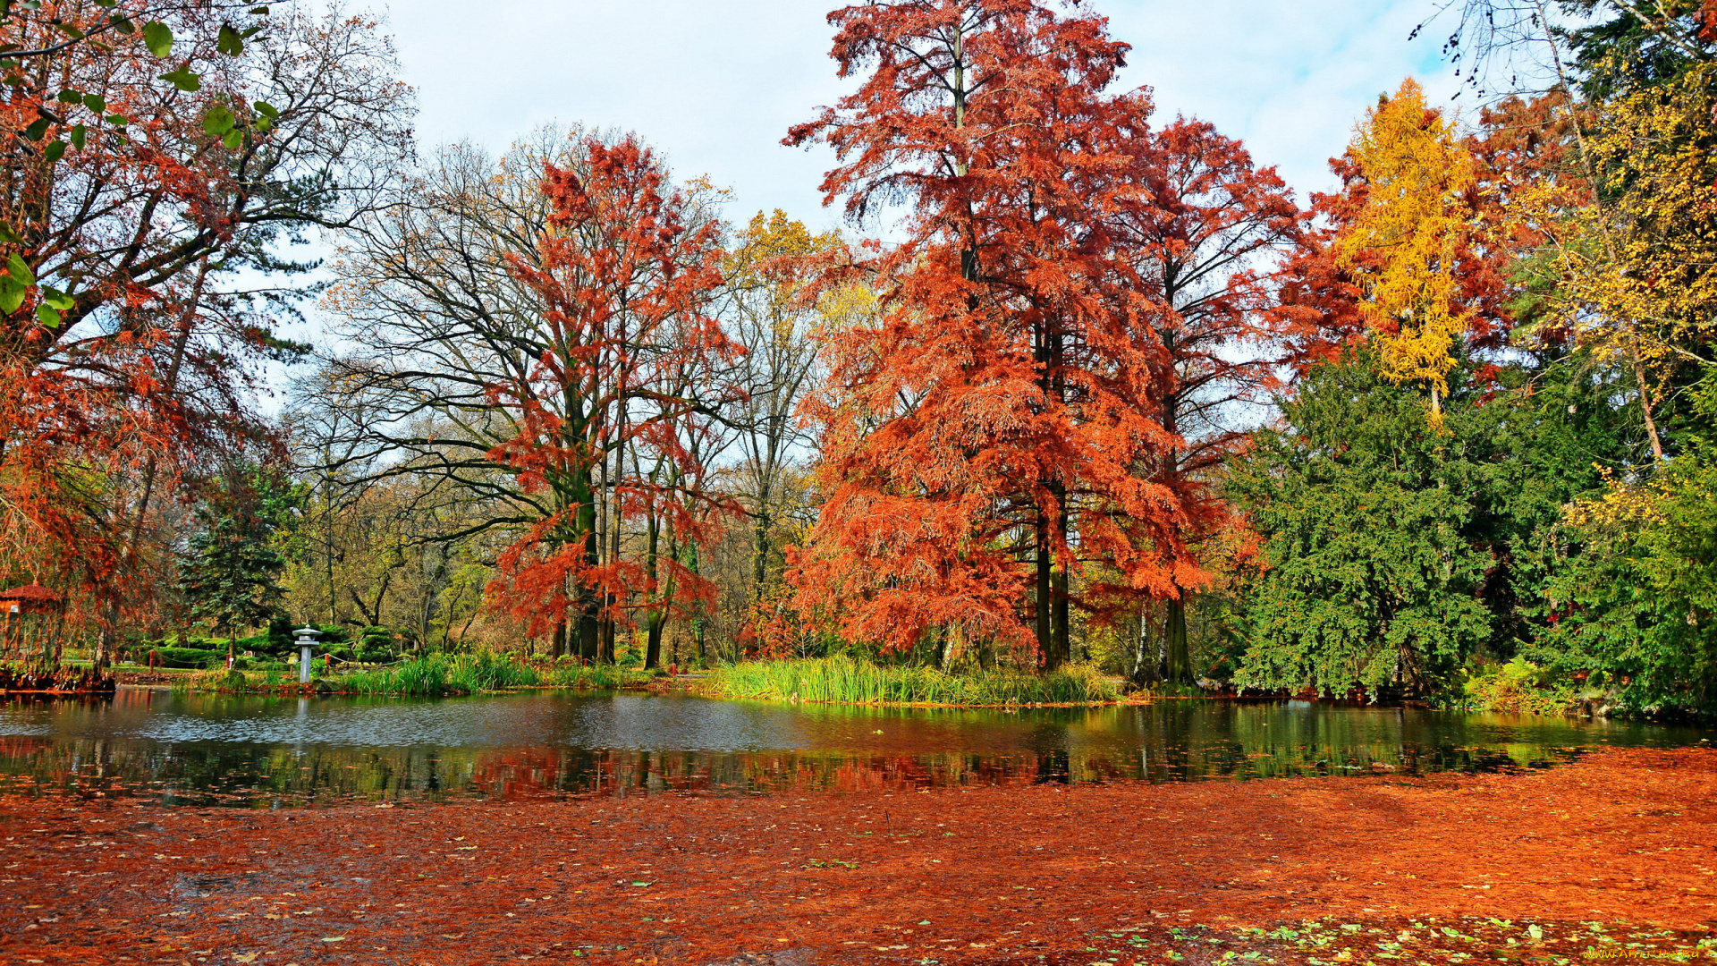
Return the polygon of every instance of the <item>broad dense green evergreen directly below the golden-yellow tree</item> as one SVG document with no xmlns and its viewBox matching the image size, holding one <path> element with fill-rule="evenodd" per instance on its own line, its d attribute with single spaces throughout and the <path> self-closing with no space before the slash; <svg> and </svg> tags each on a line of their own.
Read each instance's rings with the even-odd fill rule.
<svg viewBox="0 0 1717 966">
<path fill-rule="evenodd" d="M 1569 359 L 1449 373 L 1442 426 L 1358 351 L 1279 400 L 1228 492 L 1265 541 L 1235 682 L 1434 694 L 1468 657 L 1549 627 L 1562 505 L 1631 450 L 1611 387 Z"/>
</svg>

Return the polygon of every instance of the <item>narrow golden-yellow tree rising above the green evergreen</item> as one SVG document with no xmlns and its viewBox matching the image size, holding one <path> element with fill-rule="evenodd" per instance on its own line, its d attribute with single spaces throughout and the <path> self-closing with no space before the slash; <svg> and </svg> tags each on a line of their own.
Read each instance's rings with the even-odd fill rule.
<svg viewBox="0 0 1717 966">
<path fill-rule="evenodd" d="M 1336 239 L 1336 263 L 1365 289 L 1360 309 L 1384 376 L 1423 383 L 1432 423 L 1441 425 L 1456 339 L 1471 315 L 1456 263 L 1470 230 L 1473 158 L 1411 77 L 1379 98 L 1348 156 L 1367 196 Z"/>
</svg>

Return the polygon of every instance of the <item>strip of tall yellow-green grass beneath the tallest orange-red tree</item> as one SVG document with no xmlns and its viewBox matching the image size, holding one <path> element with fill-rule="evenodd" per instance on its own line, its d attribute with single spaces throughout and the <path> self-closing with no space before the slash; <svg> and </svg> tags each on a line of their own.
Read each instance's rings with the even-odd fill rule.
<svg viewBox="0 0 1717 966">
<path fill-rule="evenodd" d="M 699 689 L 718 698 L 841 705 L 1090 705 L 1118 696 L 1116 686 L 1089 665 L 1051 674 L 944 674 L 848 657 L 730 663 L 713 670 Z"/>
</svg>

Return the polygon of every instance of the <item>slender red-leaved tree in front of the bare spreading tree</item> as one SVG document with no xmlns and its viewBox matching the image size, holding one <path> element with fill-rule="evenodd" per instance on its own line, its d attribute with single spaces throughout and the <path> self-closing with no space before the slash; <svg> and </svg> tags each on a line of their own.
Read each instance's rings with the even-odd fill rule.
<svg viewBox="0 0 1717 966">
<path fill-rule="evenodd" d="M 587 138 L 584 158 L 579 174 L 546 165 L 553 215 L 537 254 L 508 258 L 541 299 L 544 345 L 519 378 L 488 385 L 519 428 L 489 459 L 548 512 L 501 553 L 489 595 L 532 634 L 553 631 L 556 651 L 575 634 L 580 657 L 613 662 L 615 627 L 646 614 L 659 651 L 661 615 L 713 598 L 658 538 L 666 528 L 680 545 L 706 541 L 730 509 L 706 490 L 699 454 L 713 411 L 738 395 L 721 373 L 740 351 L 709 315 L 719 222 L 671 191 L 634 138 Z M 627 557 L 622 524 L 640 519 L 652 538 Z"/>
</svg>

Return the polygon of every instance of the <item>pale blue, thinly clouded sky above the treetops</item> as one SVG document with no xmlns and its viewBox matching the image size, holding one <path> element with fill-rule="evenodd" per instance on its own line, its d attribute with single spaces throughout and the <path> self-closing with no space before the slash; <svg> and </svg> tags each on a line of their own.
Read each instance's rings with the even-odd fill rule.
<svg viewBox="0 0 1717 966">
<path fill-rule="evenodd" d="M 1408 34 L 1435 0 L 1094 0 L 1133 45 L 1123 84 L 1156 89 L 1241 138 L 1291 186 L 1332 186 L 1327 158 L 1377 95 L 1417 76 L 1456 86 L 1437 41 Z M 405 81 L 426 146 L 503 150 L 544 122 L 623 127 L 680 179 L 733 189 L 728 217 L 783 208 L 836 222 L 817 184 L 828 153 L 783 148 L 788 125 L 843 86 L 829 60 L 831 0 L 393 0 Z M 1444 36 L 1447 28 L 1427 31 Z"/>
</svg>

